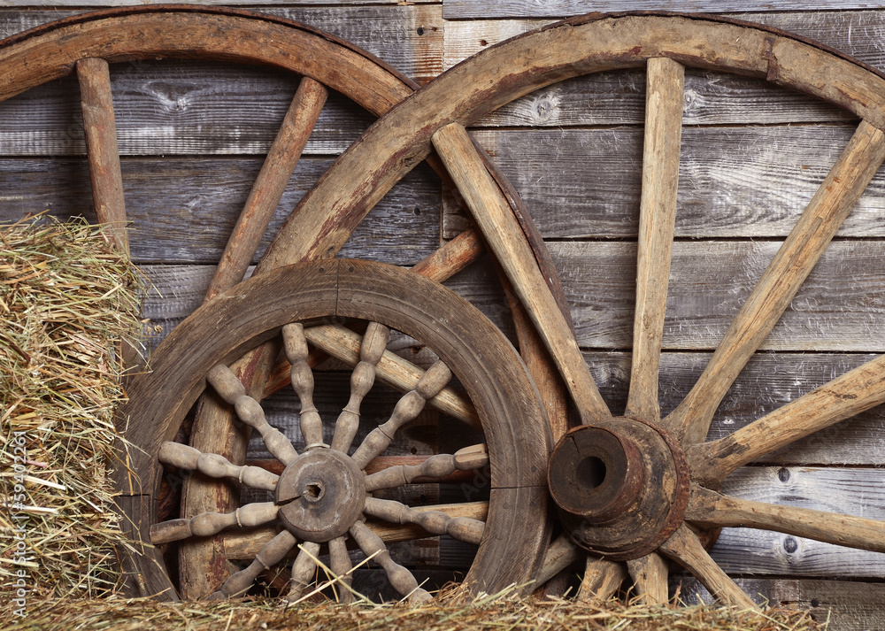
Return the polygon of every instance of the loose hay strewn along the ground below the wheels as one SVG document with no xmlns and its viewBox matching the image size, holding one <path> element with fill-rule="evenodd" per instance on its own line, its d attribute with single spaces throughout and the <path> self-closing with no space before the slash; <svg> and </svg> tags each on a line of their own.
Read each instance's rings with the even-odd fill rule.
<svg viewBox="0 0 885 631">
<path fill-rule="evenodd" d="M 0 619 L 5 618 L 0 607 Z M 6 618 L 9 619 L 9 618 Z M 304 603 L 286 609 L 280 601 L 160 604 L 150 600 L 56 601 L 18 619 L 8 631 L 98 631 L 162 628 L 168 631 L 240 629 L 391 629 L 397 631 L 577 631 L 578 629 L 729 629 L 730 631 L 812 631 L 826 628 L 807 612 L 773 609 L 765 613 L 700 605 L 650 607 L 582 604 L 564 600 L 516 598 L 506 594 L 472 602 L 455 589 L 429 604 Z"/>
</svg>

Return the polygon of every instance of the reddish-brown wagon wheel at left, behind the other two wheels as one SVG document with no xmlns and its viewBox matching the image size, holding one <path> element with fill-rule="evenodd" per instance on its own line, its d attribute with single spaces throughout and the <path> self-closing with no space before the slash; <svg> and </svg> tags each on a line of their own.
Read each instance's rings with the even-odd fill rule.
<svg viewBox="0 0 885 631">
<path fill-rule="evenodd" d="M 125 249 L 128 247 L 126 212 L 109 64 L 157 58 L 221 58 L 271 65 L 302 76 L 289 112 L 227 243 L 207 300 L 242 280 L 325 104 L 328 89 L 335 89 L 378 116 L 417 88 L 403 74 L 332 35 L 287 19 L 204 6 L 165 4 L 89 13 L 36 27 L 0 42 L 0 67 L 4 71 L 0 73 L 0 100 L 66 74 L 77 74 L 96 215 L 100 222 L 117 228 L 116 240 Z M 344 235 L 345 239 L 356 226 L 347 223 L 347 218 L 338 220 L 335 212 L 327 219 L 327 232 Z M 288 251 L 292 260 L 334 254 L 332 250 L 309 254 L 296 251 L 311 245 L 310 241 L 298 239 L 289 246 L 281 246 L 279 251 Z M 481 251 L 476 235 L 467 234 L 427 258 L 413 271 L 441 281 Z M 265 265 L 262 272 L 273 266 Z M 324 344 L 327 350 L 340 342 L 334 336 L 324 342 L 322 332 L 316 333 L 320 338 L 317 343 Z M 258 400 L 281 387 L 279 380 L 266 383 L 273 372 L 277 349 L 279 345 L 266 344 L 233 366 L 248 394 Z M 329 352 L 334 354 L 334 350 Z M 277 370 L 277 376 L 279 373 Z M 191 447 L 242 465 L 249 427 L 245 426 L 246 431 L 235 431 L 232 420 L 230 406 L 212 398 L 205 399 L 194 422 Z M 139 470 L 136 465 L 132 468 L 135 472 Z M 127 516 L 133 533 L 147 541 L 147 528 L 156 511 L 156 489 L 151 485 L 139 487 L 127 475 L 119 476 L 118 486 L 121 511 Z M 183 496 L 183 511 L 188 514 L 232 512 L 238 504 L 229 485 L 207 476 L 189 476 Z M 532 554 L 530 550 L 528 554 Z M 135 591 L 142 595 L 175 597 L 174 590 L 168 589 L 168 577 L 152 565 L 160 563 L 156 553 L 149 550 L 146 555 L 150 560 L 138 558 L 135 566 L 127 568 L 132 573 Z M 227 576 L 224 541 L 220 535 L 182 543 L 180 558 L 182 596 L 207 596 Z M 532 566 L 531 562 L 528 566 Z M 525 578 L 527 576 L 522 577 Z"/>
</svg>

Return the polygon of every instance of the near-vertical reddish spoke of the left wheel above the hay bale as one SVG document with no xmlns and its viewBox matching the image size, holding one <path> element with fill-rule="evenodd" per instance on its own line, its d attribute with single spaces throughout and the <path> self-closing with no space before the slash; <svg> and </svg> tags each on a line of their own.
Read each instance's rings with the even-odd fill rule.
<svg viewBox="0 0 885 631">
<path fill-rule="evenodd" d="M 96 217 L 99 223 L 110 225 L 112 239 L 120 250 L 128 252 L 126 204 L 119 168 L 110 69 L 108 63 L 99 58 L 80 59 L 76 67 Z"/>
</svg>

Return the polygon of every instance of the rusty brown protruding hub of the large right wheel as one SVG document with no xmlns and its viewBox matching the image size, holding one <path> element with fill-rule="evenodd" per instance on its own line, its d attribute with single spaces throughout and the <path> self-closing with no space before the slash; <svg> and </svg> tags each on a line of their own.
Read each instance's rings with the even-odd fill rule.
<svg viewBox="0 0 885 631">
<path fill-rule="evenodd" d="M 620 417 L 566 433 L 548 484 L 575 543 L 625 560 L 656 550 L 682 523 L 689 466 L 665 429 Z"/>
</svg>

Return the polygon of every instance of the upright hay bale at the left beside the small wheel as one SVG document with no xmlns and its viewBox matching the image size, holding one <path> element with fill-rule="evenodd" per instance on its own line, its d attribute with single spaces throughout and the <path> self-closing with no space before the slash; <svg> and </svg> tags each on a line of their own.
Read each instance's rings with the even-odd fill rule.
<svg viewBox="0 0 885 631">
<path fill-rule="evenodd" d="M 37 596 L 105 596 L 119 581 L 108 480 L 119 343 L 139 279 L 100 228 L 0 227 L 0 581 Z M 18 583 L 18 585 L 16 585 Z"/>
</svg>

